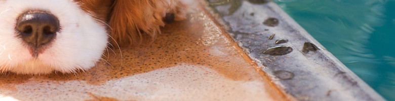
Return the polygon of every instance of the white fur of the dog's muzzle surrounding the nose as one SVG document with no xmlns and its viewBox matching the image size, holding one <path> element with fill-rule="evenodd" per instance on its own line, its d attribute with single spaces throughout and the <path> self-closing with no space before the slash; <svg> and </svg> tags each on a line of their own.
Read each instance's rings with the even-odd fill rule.
<svg viewBox="0 0 395 101">
<path fill-rule="evenodd" d="M 41 9 L 55 15 L 61 26 L 51 47 L 34 59 L 21 38 L 16 37 L 16 19 L 24 11 Z M 95 66 L 106 45 L 103 24 L 70 0 L 0 1 L 0 71 L 20 74 L 70 73 Z"/>
</svg>

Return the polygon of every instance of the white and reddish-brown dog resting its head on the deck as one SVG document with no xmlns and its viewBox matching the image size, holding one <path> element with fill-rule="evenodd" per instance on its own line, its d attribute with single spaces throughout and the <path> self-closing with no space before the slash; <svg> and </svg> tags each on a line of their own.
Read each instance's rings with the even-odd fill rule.
<svg viewBox="0 0 395 101">
<path fill-rule="evenodd" d="M 1 0 L 0 71 L 75 73 L 186 18 L 178 0 Z"/>
</svg>

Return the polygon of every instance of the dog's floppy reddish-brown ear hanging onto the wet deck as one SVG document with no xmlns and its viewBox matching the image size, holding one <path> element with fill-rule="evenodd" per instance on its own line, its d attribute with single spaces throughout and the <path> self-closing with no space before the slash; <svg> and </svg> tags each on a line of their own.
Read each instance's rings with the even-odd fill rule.
<svg viewBox="0 0 395 101">
<path fill-rule="evenodd" d="M 121 46 L 140 43 L 144 36 L 160 34 L 163 18 L 173 13 L 175 20 L 185 19 L 178 0 L 115 0 L 109 20 L 111 37 Z M 184 11 L 184 10 L 181 10 Z"/>
</svg>

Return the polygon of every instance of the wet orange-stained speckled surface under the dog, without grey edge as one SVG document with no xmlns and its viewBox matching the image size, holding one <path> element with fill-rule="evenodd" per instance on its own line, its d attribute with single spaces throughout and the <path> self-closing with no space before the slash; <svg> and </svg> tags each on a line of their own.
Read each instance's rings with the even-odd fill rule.
<svg viewBox="0 0 395 101">
<path fill-rule="evenodd" d="M 0 76 L 8 100 L 287 100 L 203 9 L 88 71 Z M 122 54 L 120 53 L 122 52 Z"/>
</svg>

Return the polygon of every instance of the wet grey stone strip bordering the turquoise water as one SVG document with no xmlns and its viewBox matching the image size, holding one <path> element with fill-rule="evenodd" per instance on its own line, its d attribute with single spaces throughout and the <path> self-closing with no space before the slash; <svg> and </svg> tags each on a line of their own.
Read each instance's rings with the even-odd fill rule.
<svg viewBox="0 0 395 101">
<path fill-rule="evenodd" d="M 277 4 L 208 1 L 235 42 L 298 100 L 385 100 Z"/>
</svg>

